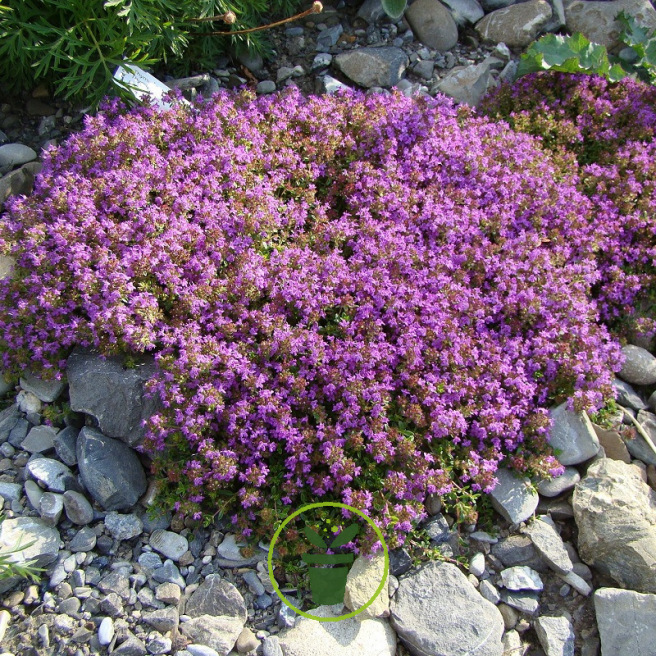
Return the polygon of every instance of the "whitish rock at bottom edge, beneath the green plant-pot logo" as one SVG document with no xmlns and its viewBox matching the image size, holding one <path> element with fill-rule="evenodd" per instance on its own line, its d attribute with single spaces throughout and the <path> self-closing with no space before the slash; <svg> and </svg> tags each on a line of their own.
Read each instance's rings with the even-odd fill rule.
<svg viewBox="0 0 656 656">
<path fill-rule="evenodd" d="M 341 604 L 319 606 L 308 612 L 316 617 L 344 614 Z M 318 622 L 299 617 L 294 628 L 280 633 L 279 640 L 284 656 L 394 656 L 396 652 L 394 631 L 380 619 L 358 622 L 356 617 L 351 617 L 338 622 Z"/>
</svg>

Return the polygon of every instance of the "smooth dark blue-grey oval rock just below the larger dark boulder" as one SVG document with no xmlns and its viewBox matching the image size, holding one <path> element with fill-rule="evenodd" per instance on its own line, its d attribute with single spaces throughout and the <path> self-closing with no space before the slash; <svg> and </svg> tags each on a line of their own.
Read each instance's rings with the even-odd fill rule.
<svg viewBox="0 0 656 656">
<path fill-rule="evenodd" d="M 77 462 L 84 486 L 105 510 L 129 510 L 146 491 L 137 454 L 93 428 L 78 435 Z"/>
</svg>

